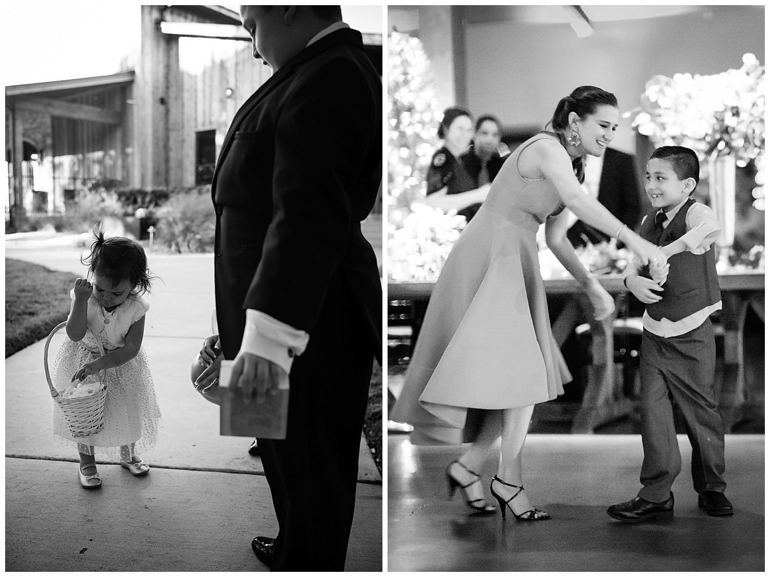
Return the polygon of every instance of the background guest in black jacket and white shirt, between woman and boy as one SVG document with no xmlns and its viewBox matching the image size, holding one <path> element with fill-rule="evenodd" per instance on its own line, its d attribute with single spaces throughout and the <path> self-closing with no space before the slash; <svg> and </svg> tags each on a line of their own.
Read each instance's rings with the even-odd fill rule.
<svg viewBox="0 0 770 577">
<path fill-rule="evenodd" d="M 634 167 L 634 156 L 608 148 L 602 156 L 585 156 L 583 190 L 603 204 L 613 216 L 635 230 L 639 223 L 641 200 Z M 606 234 L 570 215 L 573 224 L 567 238 L 573 247 L 610 240 Z"/>
</svg>

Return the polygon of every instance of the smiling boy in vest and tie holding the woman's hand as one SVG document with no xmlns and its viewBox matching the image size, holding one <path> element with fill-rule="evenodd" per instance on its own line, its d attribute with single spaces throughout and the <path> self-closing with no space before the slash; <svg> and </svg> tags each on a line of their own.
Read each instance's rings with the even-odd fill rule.
<svg viewBox="0 0 770 577">
<path fill-rule="evenodd" d="M 634 260 L 623 273 L 626 288 L 647 304 L 640 354 L 643 487 L 636 498 L 607 511 L 624 522 L 673 515 L 671 485 L 681 470 L 673 404 L 692 445 L 698 507 L 711 516 L 732 515 L 722 477 L 725 434 L 714 402 L 716 347 L 709 320 L 721 309 L 713 247 L 721 230 L 708 206 L 691 198 L 699 169 L 698 156 L 684 146 L 652 153 L 645 191 L 654 210 L 639 234 L 661 247 L 668 265 L 648 270 Z"/>
</svg>

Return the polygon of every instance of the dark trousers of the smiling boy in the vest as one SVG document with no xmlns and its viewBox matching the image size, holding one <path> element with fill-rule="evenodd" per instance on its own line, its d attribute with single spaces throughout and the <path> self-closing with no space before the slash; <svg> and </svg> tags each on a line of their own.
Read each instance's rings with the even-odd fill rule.
<svg viewBox="0 0 770 577">
<path fill-rule="evenodd" d="M 692 445 L 695 491 L 725 491 L 725 431 L 714 402 L 716 345 L 711 320 L 677 337 L 644 330 L 641 340 L 641 441 L 644 461 L 639 496 L 668 499 L 681 470 L 672 402 L 685 418 Z"/>
</svg>

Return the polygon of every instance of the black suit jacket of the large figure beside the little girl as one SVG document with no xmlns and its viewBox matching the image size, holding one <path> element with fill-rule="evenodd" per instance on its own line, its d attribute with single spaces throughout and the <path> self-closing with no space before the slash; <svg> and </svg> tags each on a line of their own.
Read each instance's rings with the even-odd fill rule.
<svg viewBox="0 0 770 577">
<path fill-rule="evenodd" d="M 381 179 L 382 82 L 360 32 L 338 30 L 249 97 L 219 153 L 214 269 L 226 358 L 239 351 L 247 308 L 312 340 L 319 317 L 345 303 L 381 359 L 382 287 L 360 229 Z"/>
</svg>

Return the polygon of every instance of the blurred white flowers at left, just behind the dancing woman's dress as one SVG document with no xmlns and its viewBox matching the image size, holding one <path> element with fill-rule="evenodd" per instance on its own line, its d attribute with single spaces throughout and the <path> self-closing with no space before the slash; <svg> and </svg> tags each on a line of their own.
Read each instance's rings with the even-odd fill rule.
<svg viewBox="0 0 770 577">
<path fill-rule="evenodd" d="M 402 227 L 388 225 L 389 280 L 437 280 L 465 224 L 465 217 L 454 211 L 444 214 L 440 209 L 414 204 Z"/>
</svg>

